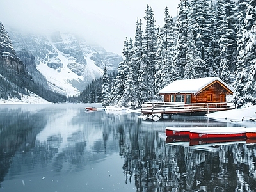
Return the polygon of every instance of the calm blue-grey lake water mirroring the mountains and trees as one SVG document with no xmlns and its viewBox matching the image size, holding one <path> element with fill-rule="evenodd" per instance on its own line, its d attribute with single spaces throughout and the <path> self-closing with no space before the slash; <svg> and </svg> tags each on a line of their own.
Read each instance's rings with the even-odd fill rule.
<svg viewBox="0 0 256 192">
<path fill-rule="evenodd" d="M 1 105 L 0 191 L 256 191 L 256 140 L 202 145 L 164 132 L 239 124 L 204 116 L 150 122 L 85 106 Z"/>
</svg>

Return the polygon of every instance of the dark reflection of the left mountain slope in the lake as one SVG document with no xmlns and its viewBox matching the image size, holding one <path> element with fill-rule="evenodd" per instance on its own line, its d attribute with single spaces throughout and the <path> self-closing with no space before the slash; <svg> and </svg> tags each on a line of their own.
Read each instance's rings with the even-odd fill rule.
<svg viewBox="0 0 256 192">
<path fill-rule="evenodd" d="M 35 120 L 40 119 L 36 122 Z M 44 129 L 47 120 L 40 113 L 22 111 L 21 108 L 3 108 L 0 115 L 0 184 L 10 172 L 19 173 L 20 169 L 10 170 L 10 164 L 17 151 L 29 152 L 35 146 L 38 132 Z M 22 162 L 20 154 L 19 164 Z M 19 166 L 19 164 L 17 166 Z M 28 162 L 29 164 L 29 162 Z M 33 164 L 31 164 L 33 166 Z"/>
</svg>

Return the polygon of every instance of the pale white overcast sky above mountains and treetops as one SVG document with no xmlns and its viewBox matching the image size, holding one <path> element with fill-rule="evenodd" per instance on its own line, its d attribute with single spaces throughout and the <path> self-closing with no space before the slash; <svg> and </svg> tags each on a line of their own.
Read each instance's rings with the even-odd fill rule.
<svg viewBox="0 0 256 192">
<path fill-rule="evenodd" d="M 163 26 L 164 8 L 177 15 L 180 0 L 1 0 L 4 26 L 31 32 L 76 32 L 108 52 L 122 54 L 127 36 L 134 39 L 136 19 L 145 28 L 145 9 L 152 7 L 156 26 Z"/>
</svg>

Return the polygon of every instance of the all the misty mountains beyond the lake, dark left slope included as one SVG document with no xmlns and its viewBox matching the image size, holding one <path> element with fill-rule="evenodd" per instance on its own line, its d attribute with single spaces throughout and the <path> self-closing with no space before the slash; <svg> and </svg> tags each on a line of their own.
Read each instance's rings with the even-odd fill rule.
<svg viewBox="0 0 256 192">
<path fill-rule="evenodd" d="M 37 97 L 64 102 L 102 77 L 103 68 L 117 70 L 122 56 L 91 46 L 70 33 L 21 33 L 0 22 L 0 99 Z"/>
</svg>

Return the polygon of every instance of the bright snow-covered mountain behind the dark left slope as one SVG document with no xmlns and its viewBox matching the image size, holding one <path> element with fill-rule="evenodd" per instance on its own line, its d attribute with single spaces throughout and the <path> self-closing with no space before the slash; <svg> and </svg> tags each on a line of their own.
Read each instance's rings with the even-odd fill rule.
<svg viewBox="0 0 256 192">
<path fill-rule="evenodd" d="M 105 65 L 108 72 L 113 72 L 122 61 L 122 56 L 90 46 L 83 38 L 70 33 L 44 36 L 24 34 L 10 28 L 6 31 L 17 56 L 32 76 L 39 77 L 40 81 L 46 79 L 51 90 L 63 95 L 78 95 L 94 79 L 102 77 Z M 36 67 L 29 55 L 35 57 Z"/>
</svg>

